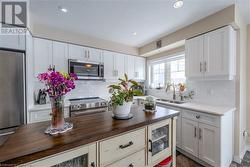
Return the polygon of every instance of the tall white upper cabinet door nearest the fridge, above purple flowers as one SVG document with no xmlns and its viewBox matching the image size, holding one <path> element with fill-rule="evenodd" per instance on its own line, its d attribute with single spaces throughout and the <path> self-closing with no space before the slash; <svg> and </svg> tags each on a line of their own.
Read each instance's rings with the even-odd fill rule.
<svg viewBox="0 0 250 167">
<path fill-rule="evenodd" d="M 52 65 L 52 41 L 34 38 L 34 76 L 46 72 Z"/>
</svg>

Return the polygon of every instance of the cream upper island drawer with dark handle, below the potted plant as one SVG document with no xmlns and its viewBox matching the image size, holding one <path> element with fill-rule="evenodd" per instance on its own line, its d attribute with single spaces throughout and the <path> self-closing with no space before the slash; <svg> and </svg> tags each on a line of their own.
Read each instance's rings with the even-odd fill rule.
<svg viewBox="0 0 250 167">
<path fill-rule="evenodd" d="M 145 128 L 100 142 L 100 165 L 106 166 L 145 148 Z"/>
</svg>

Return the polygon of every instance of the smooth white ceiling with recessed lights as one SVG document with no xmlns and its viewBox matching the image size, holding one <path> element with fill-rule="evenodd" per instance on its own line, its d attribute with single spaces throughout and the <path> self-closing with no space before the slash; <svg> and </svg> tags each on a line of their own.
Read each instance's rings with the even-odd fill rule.
<svg viewBox="0 0 250 167">
<path fill-rule="evenodd" d="M 31 0 L 35 23 L 131 46 L 142 46 L 215 13 L 234 0 Z M 58 6 L 68 9 L 67 13 Z M 132 35 L 137 32 L 137 35 Z"/>
</svg>

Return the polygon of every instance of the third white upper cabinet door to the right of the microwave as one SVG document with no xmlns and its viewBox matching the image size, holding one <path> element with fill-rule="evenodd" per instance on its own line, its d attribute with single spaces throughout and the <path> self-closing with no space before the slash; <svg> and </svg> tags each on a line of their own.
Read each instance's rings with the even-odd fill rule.
<svg viewBox="0 0 250 167">
<path fill-rule="evenodd" d="M 125 73 L 128 75 L 129 79 L 135 78 L 135 59 L 134 56 L 125 55 L 124 59 L 124 69 Z"/>
</svg>

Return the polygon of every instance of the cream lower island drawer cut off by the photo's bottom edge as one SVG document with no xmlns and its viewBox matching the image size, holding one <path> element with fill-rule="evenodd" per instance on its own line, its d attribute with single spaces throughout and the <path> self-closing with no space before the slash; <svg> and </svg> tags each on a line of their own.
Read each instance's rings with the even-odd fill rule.
<svg viewBox="0 0 250 167">
<path fill-rule="evenodd" d="M 132 154 L 120 161 L 117 161 L 107 167 L 144 167 L 146 164 L 145 161 L 145 149 Z"/>
</svg>

